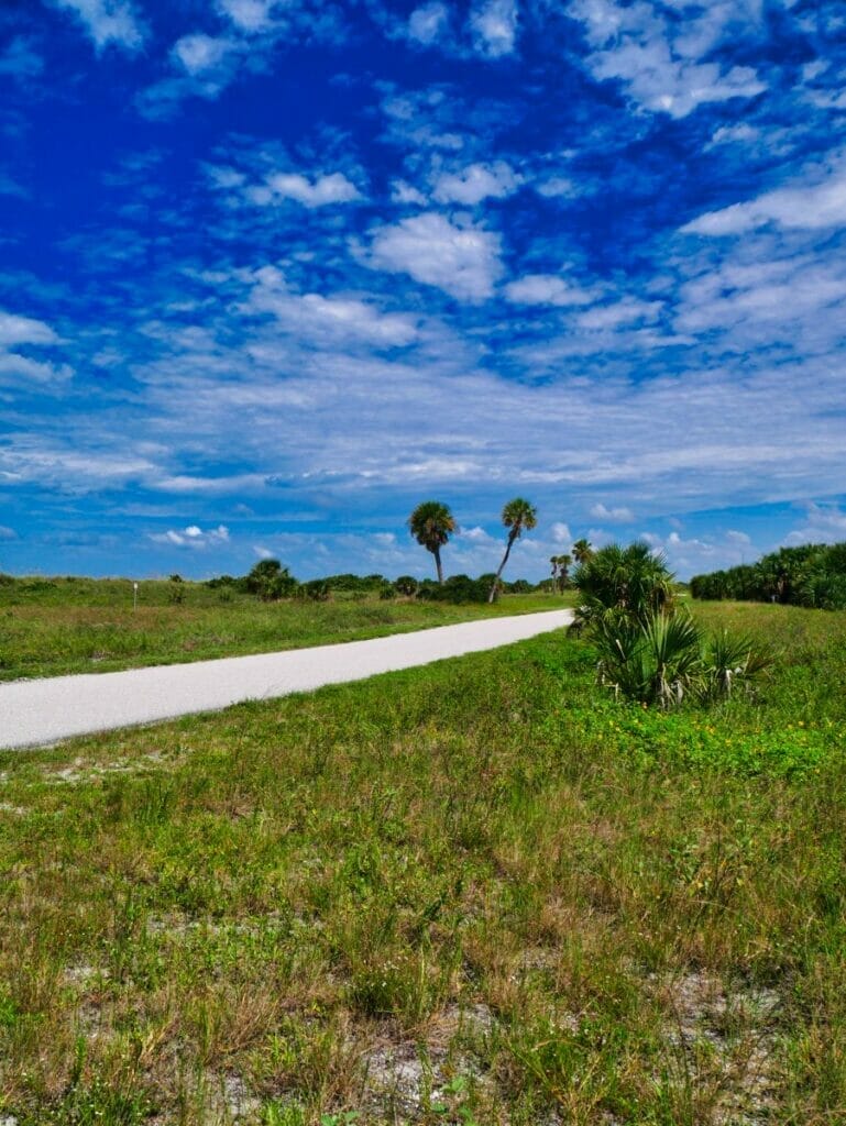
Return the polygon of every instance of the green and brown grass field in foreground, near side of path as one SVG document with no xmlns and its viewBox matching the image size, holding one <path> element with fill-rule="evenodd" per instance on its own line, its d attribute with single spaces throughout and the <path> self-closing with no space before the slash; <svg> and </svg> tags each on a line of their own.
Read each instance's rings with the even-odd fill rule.
<svg viewBox="0 0 846 1126">
<path fill-rule="evenodd" d="M 846 615 L 697 613 L 757 700 L 558 634 L 0 756 L 0 1120 L 846 1121 Z"/>
</svg>

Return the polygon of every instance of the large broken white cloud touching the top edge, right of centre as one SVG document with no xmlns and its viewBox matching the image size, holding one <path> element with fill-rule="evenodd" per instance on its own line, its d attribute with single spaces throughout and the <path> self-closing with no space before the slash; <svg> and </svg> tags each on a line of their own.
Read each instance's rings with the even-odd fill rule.
<svg viewBox="0 0 846 1126">
<path fill-rule="evenodd" d="M 756 5 L 715 0 L 700 8 L 683 3 L 680 18 L 643 0 L 576 0 L 568 14 L 585 26 L 594 48 L 587 65 L 598 79 L 618 79 L 647 109 L 685 117 L 707 101 L 750 98 L 766 89 L 749 66 L 728 70 L 701 61 L 739 21 L 756 23 Z"/>
</svg>

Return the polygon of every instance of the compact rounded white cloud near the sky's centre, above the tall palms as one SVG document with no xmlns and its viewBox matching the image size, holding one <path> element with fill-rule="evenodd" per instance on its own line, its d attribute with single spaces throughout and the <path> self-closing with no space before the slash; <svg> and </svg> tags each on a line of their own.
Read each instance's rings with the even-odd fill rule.
<svg viewBox="0 0 846 1126">
<path fill-rule="evenodd" d="M 501 272 L 499 235 L 473 224 L 455 225 L 435 212 L 376 227 L 368 262 L 410 274 L 458 301 L 490 297 Z"/>
</svg>

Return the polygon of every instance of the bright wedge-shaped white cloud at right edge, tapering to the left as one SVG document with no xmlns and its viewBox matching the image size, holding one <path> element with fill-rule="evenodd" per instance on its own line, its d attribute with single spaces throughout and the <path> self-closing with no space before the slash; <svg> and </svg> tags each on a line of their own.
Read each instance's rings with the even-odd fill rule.
<svg viewBox="0 0 846 1126">
<path fill-rule="evenodd" d="M 767 191 L 748 203 L 732 204 L 720 211 L 706 212 L 682 227 L 694 234 L 745 234 L 756 227 L 775 223 L 785 230 L 816 231 L 843 226 L 846 223 L 846 160 L 820 170 L 811 170 L 816 184 L 794 184 Z"/>
</svg>

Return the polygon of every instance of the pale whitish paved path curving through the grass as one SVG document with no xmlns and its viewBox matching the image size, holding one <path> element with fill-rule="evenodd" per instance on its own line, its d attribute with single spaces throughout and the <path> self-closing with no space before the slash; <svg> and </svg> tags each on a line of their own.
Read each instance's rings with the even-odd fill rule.
<svg viewBox="0 0 846 1126">
<path fill-rule="evenodd" d="M 249 699 L 310 691 L 524 641 L 572 620 L 572 610 L 487 618 L 344 645 L 230 656 L 0 685 L 0 748 L 172 720 Z"/>
</svg>

